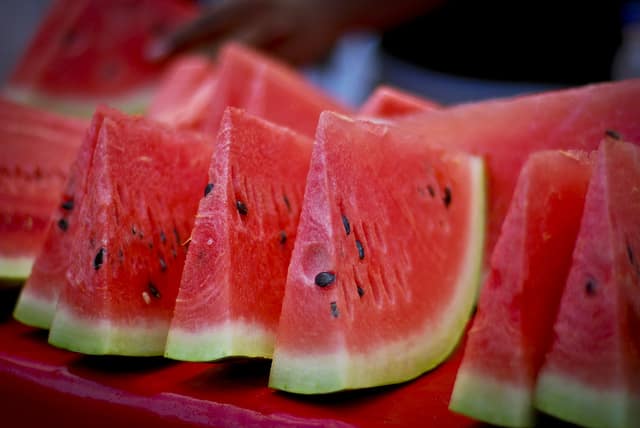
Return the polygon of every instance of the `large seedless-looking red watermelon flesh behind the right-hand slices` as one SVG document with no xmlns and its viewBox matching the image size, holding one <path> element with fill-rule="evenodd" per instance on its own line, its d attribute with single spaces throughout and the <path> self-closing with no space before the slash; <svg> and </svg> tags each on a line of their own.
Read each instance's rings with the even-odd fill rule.
<svg viewBox="0 0 640 428">
<path fill-rule="evenodd" d="M 640 141 L 640 79 L 434 110 L 400 121 L 431 144 L 482 156 L 489 173 L 491 254 L 527 157 L 543 149 L 591 151 L 606 130 Z"/>
</svg>

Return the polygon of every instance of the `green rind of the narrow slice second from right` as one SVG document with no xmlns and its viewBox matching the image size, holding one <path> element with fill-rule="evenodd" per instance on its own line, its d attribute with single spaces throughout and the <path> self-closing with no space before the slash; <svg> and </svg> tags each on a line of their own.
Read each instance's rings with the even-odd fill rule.
<svg viewBox="0 0 640 428">
<path fill-rule="evenodd" d="M 535 424 L 532 402 L 529 388 L 472 370 L 460 370 L 449 409 L 493 425 L 530 427 Z"/>
</svg>

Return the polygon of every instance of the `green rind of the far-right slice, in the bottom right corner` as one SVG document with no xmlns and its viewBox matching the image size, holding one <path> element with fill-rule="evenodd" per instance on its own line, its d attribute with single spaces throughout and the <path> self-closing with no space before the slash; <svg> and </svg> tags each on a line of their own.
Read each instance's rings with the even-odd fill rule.
<svg viewBox="0 0 640 428">
<path fill-rule="evenodd" d="M 538 410 L 589 428 L 630 428 L 640 420 L 640 396 L 597 390 L 561 373 L 541 374 L 534 400 Z"/>
</svg>

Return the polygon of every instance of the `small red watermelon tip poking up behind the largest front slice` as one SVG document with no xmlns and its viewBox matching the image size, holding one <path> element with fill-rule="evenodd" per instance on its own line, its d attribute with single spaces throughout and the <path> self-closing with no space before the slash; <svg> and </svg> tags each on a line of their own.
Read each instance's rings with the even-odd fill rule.
<svg viewBox="0 0 640 428">
<path fill-rule="evenodd" d="M 440 105 L 436 102 L 391 86 L 381 85 L 365 100 L 358 114 L 383 119 L 398 119 L 437 108 L 440 108 Z"/>
</svg>

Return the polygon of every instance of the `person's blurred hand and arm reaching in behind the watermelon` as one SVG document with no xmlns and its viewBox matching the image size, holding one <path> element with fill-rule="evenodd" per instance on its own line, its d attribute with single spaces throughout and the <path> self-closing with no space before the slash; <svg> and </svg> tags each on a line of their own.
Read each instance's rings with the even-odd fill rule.
<svg viewBox="0 0 640 428">
<path fill-rule="evenodd" d="M 444 0 L 223 0 L 149 49 L 152 59 L 236 40 L 294 64 L 326 54 L 346 31 L 385 29 Z"/>
</svg>

